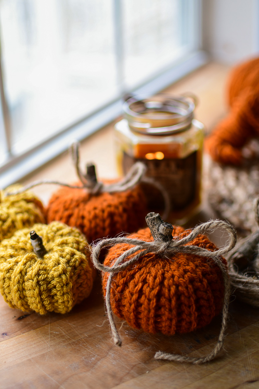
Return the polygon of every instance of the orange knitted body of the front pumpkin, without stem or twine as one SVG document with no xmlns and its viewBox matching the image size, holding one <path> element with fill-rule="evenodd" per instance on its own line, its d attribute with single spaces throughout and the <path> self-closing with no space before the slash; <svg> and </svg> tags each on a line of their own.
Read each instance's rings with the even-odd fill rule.
<svg viewBox="0 0 259 389">
<path fill-rule="evenodd" d="M 190 231 L 174 227 L 173 236 L 187 236 Z M 130 238 L 153 241 L 149 228 Z M 215 245 L 198 235 L 189 245 L 214 250 Z M 130 245 L 109 249 L 104 265 L 113 265 Z M 222 262 L 226 264 L 224 258 Z M 103 293 L 108 274 L 103 274 Z M 111 307 L 116 316 L 133 328 L 165 335 L 187 333 L 206 326 L 223 306 L 224 281 L 220 268 L 209 258 L 177 253 L 162 259 L 153 253 L 113 275 Z"/>
</svg>

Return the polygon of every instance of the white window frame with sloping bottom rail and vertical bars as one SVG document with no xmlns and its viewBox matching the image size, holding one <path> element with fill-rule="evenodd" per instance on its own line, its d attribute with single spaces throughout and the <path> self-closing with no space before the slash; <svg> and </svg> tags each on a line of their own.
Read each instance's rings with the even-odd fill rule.
<svg viewBox="0 0 259 389">
<path fill-rule="evenodd" d="M 184 3 L 185 0 L 178 0 Z M 135 94 L 152 95 L 173 82 L 189 74 L 191 71 L 204 65 L 207 60 L 207 54 L 201 50 L 202 41 L 202 1 L 192 0 L 192 9 L 189 12 L 195 13 L 196 34 L 195 34 L 195 50 L 187 54 L 185 57 L 175 60 L 171 66 L 156 74 L 152 79 L 144 85 L 139 85 L 138 88 L 130 92 Z M 122 47 L 122 28 L 121 28 L 121 0 L 114 0 L 115 20 L 115 42 L 116 42 L 116 60 L 117 60 L 117 77 L 121 85 L 121 94 L 123 94 L 123 47 Z M 71 141 L 77 139 L 82 141 L 88 136 L 96 132 L 121 115 L 122 100 L 118 98 L 110 102 L 102 109 L 98 109 L 87 115 L 80 122 L 73 124 L 61 130 L 47 141 L 42 142 L 30 149 L 29 151 L 19 155 L 12 155 L 10 141 L 10 117 L 8 107 L 4 96 L 4 88 L 2 83 L 2 70 L 0 67 L 0 98 L 1 98 L 1 113 L 0 122 L 2 122 L 5 132 L 0 132 L 0 139 L 5 143 L 6 152 L 8 155 L 6 163 L 0 167 L 0 188 L 5 188 L 8 185 L 17 182 L 21 178 L 27 176 L 32 171 L 41 167 L 51 159 L 55 158 L 62 152 L 68 149 Z M 1 123 L 0 123 L 1 124 Z M 1 128 L 1 125 L 0 125 Z"/>
</svg>

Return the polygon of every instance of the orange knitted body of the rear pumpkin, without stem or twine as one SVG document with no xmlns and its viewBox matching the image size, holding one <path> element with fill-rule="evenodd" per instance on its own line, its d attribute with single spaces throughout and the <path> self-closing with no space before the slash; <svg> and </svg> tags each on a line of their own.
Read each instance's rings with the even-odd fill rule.
<svg viewBox="0 0 259 389">
<path fill-rule="evenodd" d="M 88 242 L 137 231 L 145 223 L 146 214 L 146 198 L 139 185 L 124 192 L 98 195 L 90 195 L 86 189 L 61 187 L 47 207 L 48 223 L 57 220 L 77 227 Z"/>
</svg>

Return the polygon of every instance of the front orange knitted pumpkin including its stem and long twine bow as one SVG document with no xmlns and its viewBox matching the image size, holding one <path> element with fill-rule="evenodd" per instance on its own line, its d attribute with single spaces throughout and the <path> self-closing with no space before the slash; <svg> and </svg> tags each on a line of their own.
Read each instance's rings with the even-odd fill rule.
<svg viewBox="0 0 259 389">
<path fill-rule="evenodd" d="M 226 261 L 221 255 L 235 246 L 236 231 L 221 220 L 210 220 L 184 231 L 164 222 L 154 212 L 148 213 L 146 222 L 150 231 L 139 230 L 129 237 L 104 239 L 92 249 L 93 264 L 103 274 L 105 305 L 114 343 L 121 346 L 112 312 L 134 328 L 173 335 L 207 325 L 222 309 L 218 341 L 205 357 L 155 354 L 157 359 L 207 362 L 223 346 L 230 284 Z M 216 249 L 203 235 L 216 228 L 224 228 L 229 233 L 224 248 Z M 101 250 L 111 246 L 114 247 L 109 249 L 102 264 Z"/>
</svg>

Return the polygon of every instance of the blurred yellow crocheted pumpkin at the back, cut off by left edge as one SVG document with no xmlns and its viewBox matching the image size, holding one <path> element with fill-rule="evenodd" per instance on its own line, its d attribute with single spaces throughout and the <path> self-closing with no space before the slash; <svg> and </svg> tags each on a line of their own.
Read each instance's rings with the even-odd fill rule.
<svg viewBox="0 0 259 389">
<path fill-rule="evenodd" d="M 12 185 L 0 191 L 0 242 L 17 230 L 46 222 L 44 207 L 32 192 L 7 195 L 19 188 L 20 185 Z"/>
</svg>

